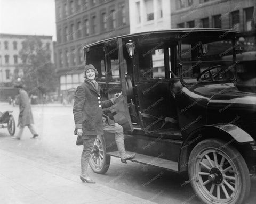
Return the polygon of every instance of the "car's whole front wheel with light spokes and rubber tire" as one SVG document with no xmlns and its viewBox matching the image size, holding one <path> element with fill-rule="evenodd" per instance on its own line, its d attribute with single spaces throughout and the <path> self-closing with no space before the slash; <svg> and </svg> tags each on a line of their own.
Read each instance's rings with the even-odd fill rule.
<svg viewBox="0 0 256 204">
<path fill-rule="evenodd" d="M 239 152 L 226 142 L 199 142 L 189 157 L 189 179 L 205 203 L 243 203 L 249 196 L 250 176 Z M 220 148 L 223 147 L 223 148 Z"/>
</svg>

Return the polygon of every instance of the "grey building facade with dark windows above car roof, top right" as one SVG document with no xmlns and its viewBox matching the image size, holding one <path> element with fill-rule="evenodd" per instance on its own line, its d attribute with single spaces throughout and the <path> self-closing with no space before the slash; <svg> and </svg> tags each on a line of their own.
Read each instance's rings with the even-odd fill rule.
<svg viewBox="0 0 256 204">
<path fill-rule="evenodd" d="M 172 28 L 225 28 L 251 31 L 254 0 L 174 0 Z"/>
</svg>

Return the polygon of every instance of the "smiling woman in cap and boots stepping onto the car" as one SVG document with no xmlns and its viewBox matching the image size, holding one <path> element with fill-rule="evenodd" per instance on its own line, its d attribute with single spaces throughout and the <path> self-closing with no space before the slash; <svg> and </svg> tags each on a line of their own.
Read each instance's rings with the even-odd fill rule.
<svg viewBox="0 0 256 204">
<path fill-rule="evenodd" d="M 77 87 L 75 92 L 75 100 L 73 107 L 73 114 L 75 120 L 75 135 L 77 135 L 77 145 L 83 145 L 83 152 L 81 155 L 81 175 L 80 179 L 83 182 L 95 183 L 88 172 L 88 162 L 90 153 L 94 146 L 94 140 L 97 135 L 103 135 L 103 121 L 102 108 L 108 108 L 116 103 L 119 95 L 114 98 L 102 101 L 99 95 L 99 86 L 95 81 L 98 72 L 92 64 L 86 65 L 84 70 L 84 83 Z M 107 116 L 105 118 L 109 119 Z M 124 148 L 123 128 L 117 123 L 106 122 L 105 128 L 109 132 L 115 133 L 118 150 L 120 148 L 121 159 L 126 162 L 129 158 L 134 158 L 135 154 L 127 155 Z M 110 124 L 109 124 L 110 123 Z M 82 142 L 79 142 L 82 141 Z"/>
</svg>

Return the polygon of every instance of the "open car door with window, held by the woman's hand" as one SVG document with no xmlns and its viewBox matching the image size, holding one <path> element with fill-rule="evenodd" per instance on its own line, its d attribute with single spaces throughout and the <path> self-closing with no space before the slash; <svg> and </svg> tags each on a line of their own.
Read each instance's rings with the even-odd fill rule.
<svg viewBox="0 0 256 204">
<path fill-rule="evenodd" d="M 108 109 L 110 109 L 115 122 L 123 126 L 124 131 L 133 131 L 127 103 L 125 81 L 127 64 L 123 57 L 122 39 L 117 38 L 107 41 L 104 45 L 104 52 L 108 98 L 114 97 L 117 92 L 121 93 L 116 104 Z"/>
</svg>

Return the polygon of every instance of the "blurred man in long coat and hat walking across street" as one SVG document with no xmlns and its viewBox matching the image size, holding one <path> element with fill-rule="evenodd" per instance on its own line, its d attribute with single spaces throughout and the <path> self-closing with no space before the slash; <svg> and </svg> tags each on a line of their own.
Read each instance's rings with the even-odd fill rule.
<svg viewBox="0 0 256 204">
<path fill-rule="evenodd" d="M 12 139 L 20 139 L 23 133 L 25 126 L 28 126 L 30 132 L 32 133 L 33 137 L 38 137 L 38 134 L 34 127 L 34 119 L 33 114 L 31 111 L 31 106 L 29 103 L 29 96 L 28 93 L 23 89 L 23 85 L 21 83 L 14 84 L 14 87 L 19 89 L 19 108 L 20 114 L 18 119 L 18 125 L 20 127 L 18 135 L 13 136 Z"/>
</svg>

